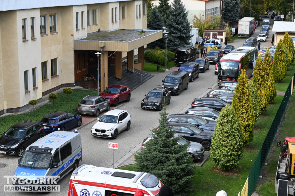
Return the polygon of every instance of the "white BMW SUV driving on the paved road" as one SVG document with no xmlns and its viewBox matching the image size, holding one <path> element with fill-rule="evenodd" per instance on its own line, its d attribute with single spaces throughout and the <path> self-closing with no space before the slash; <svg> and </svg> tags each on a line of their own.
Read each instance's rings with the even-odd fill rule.
<svg viewBox="0 0 295 196">
<path fill-rule="evenodd" d="M 116 139 L 119 133 L 128 131 L 131 125 L 131 116 L 127 110 L 114 109 L 97 120 L 91 128 L 91 135 L 95 137 Z"/>
</svg>

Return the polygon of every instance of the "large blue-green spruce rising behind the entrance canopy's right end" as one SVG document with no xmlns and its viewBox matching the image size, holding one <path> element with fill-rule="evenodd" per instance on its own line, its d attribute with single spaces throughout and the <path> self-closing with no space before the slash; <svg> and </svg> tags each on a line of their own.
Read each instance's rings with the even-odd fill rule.
<svg viewBox="0 0 295 196">
<path fill-rule="evenodd" d="M 183 45 L 190 45 L 191 26 L 189 24 L 188 12 L 181 0 L 173 0 L 169 10 L 170 20 L 166 21 L 169 37 L 167 47 L 174 50 Z"/>
</svg>

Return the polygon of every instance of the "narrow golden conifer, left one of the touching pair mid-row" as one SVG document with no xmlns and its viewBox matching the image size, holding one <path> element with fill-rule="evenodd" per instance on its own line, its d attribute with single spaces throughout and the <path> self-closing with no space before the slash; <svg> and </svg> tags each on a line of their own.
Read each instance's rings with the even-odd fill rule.
<svg viewBox="0 0 295 196">
<path fill-rule="evenodd" d="M 257 90 L 259 113 L 262 114 L 267 111 L 268 100 L 267 100 L 267 87 L 265 86 L 264 80 L 266 75 L 263 67 L 263 60 L 261 55 L 258 55 L 256 59 L 255 69 L 253 71 L 253 83 Z"/>
</svg>

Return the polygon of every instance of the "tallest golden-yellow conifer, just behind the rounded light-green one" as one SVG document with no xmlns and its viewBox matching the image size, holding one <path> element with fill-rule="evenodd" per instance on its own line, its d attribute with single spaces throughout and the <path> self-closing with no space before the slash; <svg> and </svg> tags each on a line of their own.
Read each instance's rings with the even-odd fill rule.
<svg viewBox="0 0 295 196">
<path fill-rule="evenodd" d="M 238 84 L 235 87 L 233 95 L 232 107 L 235 109 L 238 119 L 242 124 L 244 145 L 253 140 L 254 137 L 254 111 L 252 106 L 251 91 L 248 85 L 249 79 L 246 71 L 242 70 L 238 78 Z"/>
</svg>

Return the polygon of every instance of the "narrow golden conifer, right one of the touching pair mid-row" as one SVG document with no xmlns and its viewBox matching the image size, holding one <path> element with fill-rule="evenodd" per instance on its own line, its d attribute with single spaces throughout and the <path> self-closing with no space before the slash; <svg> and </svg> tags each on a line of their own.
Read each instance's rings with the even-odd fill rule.
<svg viewBox="0 0 295 196">
<path fill-rule="evenodd" d="M 276 98 L 276 85 L 275 79 L 273 77 L 273 71 L 271 70 L 271 55 L 266 51 L 263 59 L 263 67 L 265 70 L 266 80 L 264 81 L 267 87 L 267 102 L 272 103 Z"/>
</svg>

